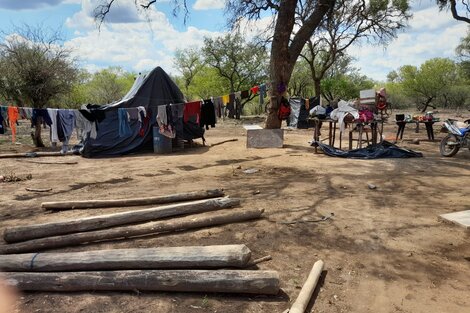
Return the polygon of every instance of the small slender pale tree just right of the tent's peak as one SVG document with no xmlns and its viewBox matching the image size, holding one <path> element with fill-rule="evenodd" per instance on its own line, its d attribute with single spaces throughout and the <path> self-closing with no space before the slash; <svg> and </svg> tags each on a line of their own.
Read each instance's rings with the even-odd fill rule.
<svg viewBox="0 0 470 313">
<path fill-rule="evenodd" d="M 189 86 L 194 77 L 204 67 L 204 61 L 201 52 L 197 49 L 178 49 L 175 52 L 174 63 L 178 71 L 183 75 L 184 90 L 188 94 Z"/>
</svg>

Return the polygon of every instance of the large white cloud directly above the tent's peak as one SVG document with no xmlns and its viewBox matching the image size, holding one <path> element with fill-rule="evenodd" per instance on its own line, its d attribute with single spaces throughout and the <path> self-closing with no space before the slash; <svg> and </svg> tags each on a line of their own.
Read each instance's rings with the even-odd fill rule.
<svg viewBox="0 0 470 313">
<path fill-rule="evenodd" d="M 67 22 L 67 26 L 75 30 L 76 37 L 65 43 L 88 68 L 99 64 L 144 71 L 158 65 L 168 73 L 176 73 L 173 64 L 176 49 L 200 47 L 205 36 L 220 34 L 192 26 L 179 31 L 165 14 L 155 9 L 147 12 L 148 20 L 141 18 L 134 23 L 105 23 L 98 30 L 86 13 L 89 8 L 85 6 L 89 4 L 89 0 L 83 1 L 82 11 Z M 88 19 L 81 22 L 79 18 Z"/>
</svg>

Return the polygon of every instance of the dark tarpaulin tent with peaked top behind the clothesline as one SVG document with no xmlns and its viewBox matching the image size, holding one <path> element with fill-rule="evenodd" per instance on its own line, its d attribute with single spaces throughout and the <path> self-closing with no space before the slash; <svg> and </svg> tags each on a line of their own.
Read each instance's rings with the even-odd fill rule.
<svg viewBox="0 0 470 313">
<path fill-rule="evenodd" d="M 155 124 L 157 107 L 170 103 L 184 103 L 183 93 L 161 68 L 153 69 L 147 75 L 139 75 L 130 91 L 122 100 L 97 106 L 97 113 L 104 114 L 104 119 L 97 123 L 97 136 L 82 142 L 80 153 L 84 157 L 117 156 L 152 147 L 152 126 Z M 131 136 L 119 136 L 118 108 L 145 107 L 147 119 L 129 122 Z M 175 120 L 177 119 L 177 120 Z M 183 138 L 183 119 L 181 114 L 174 115 L 177 137 Z"/>
</svg>

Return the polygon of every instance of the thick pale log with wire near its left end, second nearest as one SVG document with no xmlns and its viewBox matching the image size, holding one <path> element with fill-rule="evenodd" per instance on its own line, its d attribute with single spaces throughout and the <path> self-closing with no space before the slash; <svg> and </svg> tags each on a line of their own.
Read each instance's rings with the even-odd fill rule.
<svg viewBox="0 0 470 313">
<path fill-rule="evenodd" d="M 138 269 L 245 267 L 251 251 L 245 245 L 113 249 L 65 253 L 0 255 L 7 272 L 61 272 Z"/>
</svg>

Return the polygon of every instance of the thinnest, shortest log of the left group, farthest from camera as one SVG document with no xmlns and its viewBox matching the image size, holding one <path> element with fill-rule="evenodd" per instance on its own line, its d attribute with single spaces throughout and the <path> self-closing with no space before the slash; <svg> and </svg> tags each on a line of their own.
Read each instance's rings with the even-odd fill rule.
<svg viewBox="0 0 470 313">
<path fill-rule="evenodd" d="M 217 198 L 217 197 L 223 197 L 223 196 L 224 196 L 224 191 L 222 189 L 213 189 L 213 190 L 193 191 L 193 192 L 177 193 L 177 194 L 172 194 L 172 195 L 147 197 L 147 198 L 43 202 L 41 204 L 41 207 L 46 210 L 62 211 L 62 210 L 73 210 L 73 209 L 91 209 L 91 208 L 109 208 L 109 207 L 165 204 L 165 203 L 172 203 L 172 202 Z"/>
</svg>

